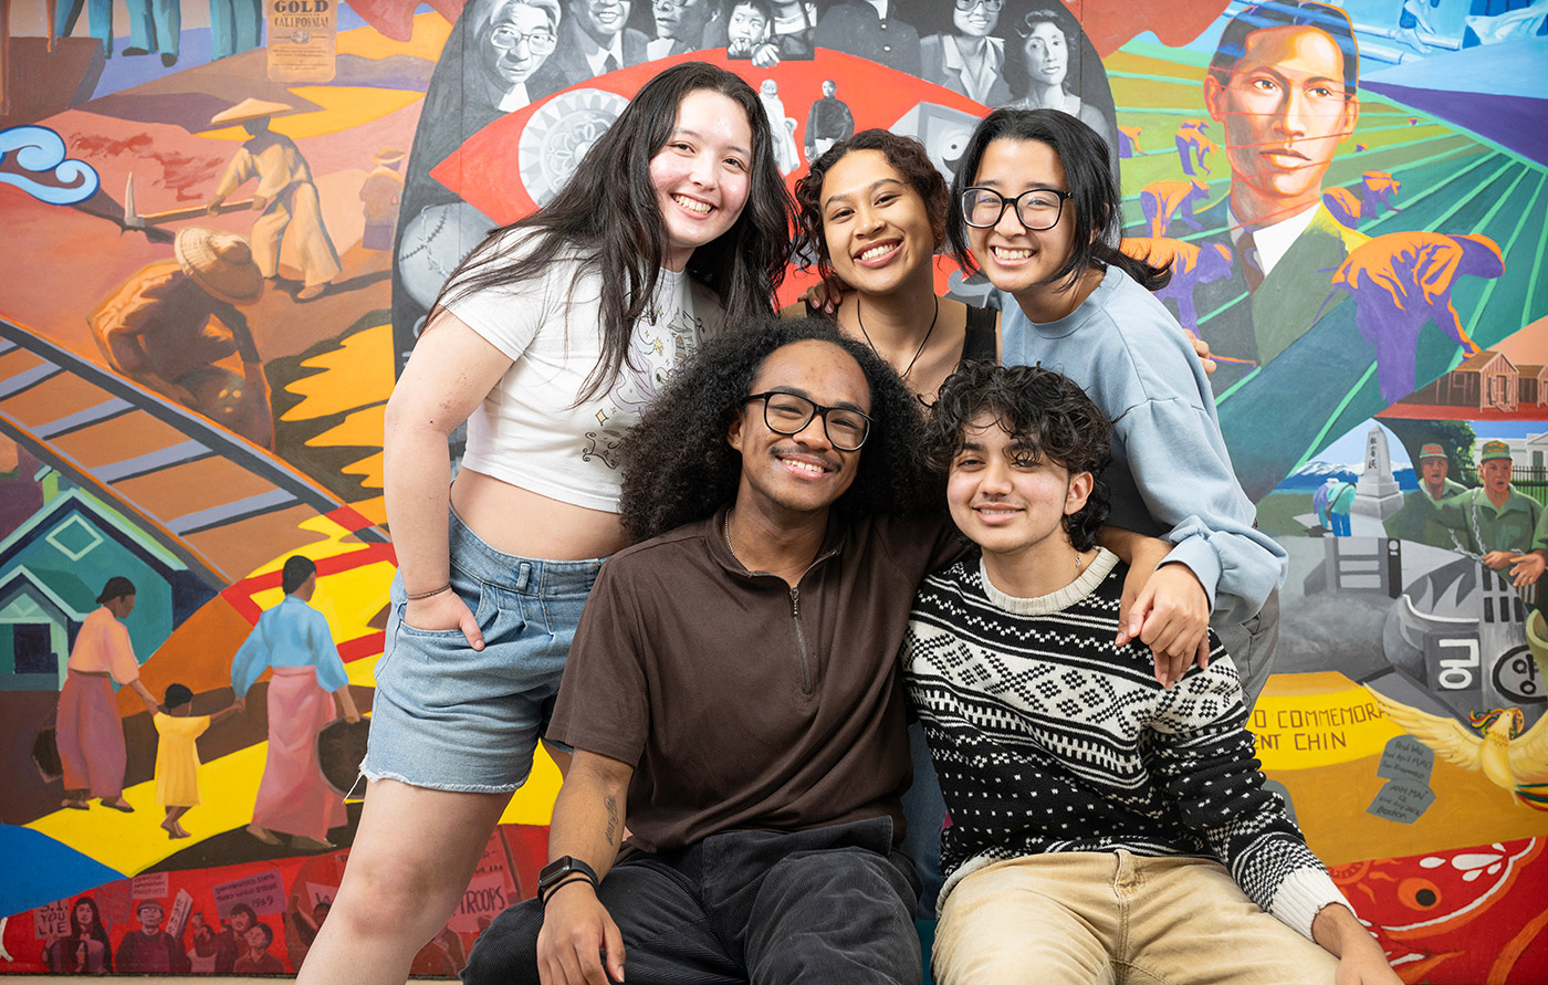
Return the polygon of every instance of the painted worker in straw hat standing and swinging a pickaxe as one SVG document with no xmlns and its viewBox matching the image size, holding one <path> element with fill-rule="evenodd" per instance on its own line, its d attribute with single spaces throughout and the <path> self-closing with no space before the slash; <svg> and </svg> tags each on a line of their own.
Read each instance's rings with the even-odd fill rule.
<svg viewBox="0 0 1548 985">
<path fill-rule="evenodd" d="M 296 300 L 311 300 L 322 296 L 339 274 L 339 254 L 322 225 L 317 186 L 311 183 L 307 158 L 296 141 L 269 130 L 271 118 L 293 110 L 283 102 L 243 99 L 209 121 L 212 127 L 240 124 L 248 132 L 248 141 L 226 166 L 207 208 L 214 214 L 238 186 L 257 178 L 252 209 L 262 215 L 252 223 L 252 259 L 265 277 L 277 277 L 280 240 L 289 235 L 302 273 Z"/>
</svg>

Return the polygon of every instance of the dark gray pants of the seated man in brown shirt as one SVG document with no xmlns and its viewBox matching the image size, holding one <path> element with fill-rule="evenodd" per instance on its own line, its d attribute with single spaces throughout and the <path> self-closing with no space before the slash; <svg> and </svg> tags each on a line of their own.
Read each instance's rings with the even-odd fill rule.
<svg viewBox="0 0 1548 985">
<path fill-rule="evenodd" d="M 632 855 L 598 891 L 624 935 L 630 985 L 918 985 L 918 884 L 892 819 L 810 832 L 728 832 Z M 500 914 L 467 956 L 469 985 L 537 982 L 537 900 Z"/>
</svg>

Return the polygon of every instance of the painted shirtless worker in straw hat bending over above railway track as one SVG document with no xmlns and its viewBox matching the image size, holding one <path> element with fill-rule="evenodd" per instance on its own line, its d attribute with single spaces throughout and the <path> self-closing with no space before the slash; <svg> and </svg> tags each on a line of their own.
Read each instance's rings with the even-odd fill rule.
<svg viewBox="0 0 1548 985">
<path fill-rule="evenodd" d="M 263 294 L 252 248 L 234 232 L 189 226 L 172 257 L 108 294 L 90 316 L 91 335 L 115 372 L 271 448 L 268 383 L 237 308 Z M 240 376 L 220 366 L 232 355 Z"/>
</svg>

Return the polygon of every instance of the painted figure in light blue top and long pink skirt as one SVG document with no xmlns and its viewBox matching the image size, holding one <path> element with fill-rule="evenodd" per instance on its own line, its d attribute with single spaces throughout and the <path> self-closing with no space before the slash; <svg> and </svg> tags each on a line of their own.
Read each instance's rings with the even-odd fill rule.
<svg viewBox="0 0 1548 985">
<path fill-rule="evenodd" d="M 246 706 L 248 689 L 266 668 L 269 680 L 269 754 L 259 782 L 248 833 L 280 844 L 279 833 L 300 849 L 331 849 L 328 829 L 345 822 L 344 799 L 322 779 L 317 733 L 333 722 L 334 698 L 348 722 L 359 722 L 328 619 L 308 606 L 317 590 L 317 565 L 296 554 L 280 575 L 285 601 L 259 616 L 231 663 L 231 688 Z"/>
</svg>

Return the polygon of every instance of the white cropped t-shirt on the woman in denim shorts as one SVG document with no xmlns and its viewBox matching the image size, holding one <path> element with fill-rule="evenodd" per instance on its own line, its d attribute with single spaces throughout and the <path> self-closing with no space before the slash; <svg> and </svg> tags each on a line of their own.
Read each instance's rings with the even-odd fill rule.
<svg viewBox="0 0 1548 985">
<path fill-rule="evenodd" d="M 502 256 L 526 231 L 506 234 Z M 618 513 L 618 446 L 698 347 L 720 330 L 720 299 L 687 273 L 663 269 L 653 304 L 635 322 L 628 358 L 604 392 L 576 404 L 602 355 L 601 274 L 573 252 L 542 277 L 457 296 L 446 308 L 514 359 L 467 418 L 463 468 L 590 510 Z"/>
</svg>

